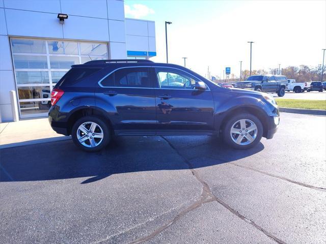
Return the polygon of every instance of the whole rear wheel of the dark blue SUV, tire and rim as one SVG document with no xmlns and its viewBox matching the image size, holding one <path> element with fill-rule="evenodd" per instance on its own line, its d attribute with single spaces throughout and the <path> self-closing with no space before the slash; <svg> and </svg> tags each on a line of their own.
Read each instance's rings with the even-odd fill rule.
<svg viewBox="0 0 326 244">
<path fill-rule="evenodd" d="M 96 116 L 79 118 L 71 130 L 73 142 L 85 151 L 99 151 L 110 142 L 110 129 Z"/>
</svg>

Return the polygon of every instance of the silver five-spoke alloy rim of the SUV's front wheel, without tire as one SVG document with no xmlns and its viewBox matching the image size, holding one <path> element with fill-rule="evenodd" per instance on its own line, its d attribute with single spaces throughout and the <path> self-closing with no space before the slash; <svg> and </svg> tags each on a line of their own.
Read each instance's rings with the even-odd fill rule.
<svg viewBox="0 0 326 244">
<path fill-rule="evenodd" d="M 239 119 L 231 127 L 231 139 L 238 145 L 249 145 L 257 137 L 258 128 L 250 119 Z"/>
</svg>

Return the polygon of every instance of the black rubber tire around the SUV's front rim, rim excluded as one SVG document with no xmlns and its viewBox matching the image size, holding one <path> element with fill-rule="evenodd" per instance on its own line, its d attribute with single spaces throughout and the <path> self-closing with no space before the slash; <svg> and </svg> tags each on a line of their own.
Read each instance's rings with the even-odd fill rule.
<svg viewBox="0 0 326 244">
<path fill-rule="evenodd" d="M 254 141 L 248 145 L 237 144 L 231 138 L 231 134 L 230 134 L 231 127 L 234 125 L 234 123 L 236 123 L 236 121 L 238 121 L 240 119 L 250 119 L 257 126 L 257 136 L 254 139 Z M 232 117 L 230 117 L 229 120 L 226 122 L 226 124 L 223 128 L 223 132 L 222 132 L 224 142 L 235 149 L 248 149 L 248 148 L 256 146 L 260 142 L 262 135 L 263 135 L 263 126 L 261 124 L 261 121 L 256 116 L 254 116 L 253 114 L 250 114 L 250 113 L 241 113 L 241 114 L 236 114 L 236 115 L 233 115 Z"/>
</svg>

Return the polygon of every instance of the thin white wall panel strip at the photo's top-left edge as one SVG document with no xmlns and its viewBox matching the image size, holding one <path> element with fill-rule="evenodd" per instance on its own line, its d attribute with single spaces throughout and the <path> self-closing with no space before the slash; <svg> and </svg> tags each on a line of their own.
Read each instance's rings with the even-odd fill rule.
<svg viewBox="0 0 326 244">
<path fill-rule="evenodd" d="M 5 0 L 5 7 L 9 9 L 60 13 L 59 0 Z"/>
</svg>

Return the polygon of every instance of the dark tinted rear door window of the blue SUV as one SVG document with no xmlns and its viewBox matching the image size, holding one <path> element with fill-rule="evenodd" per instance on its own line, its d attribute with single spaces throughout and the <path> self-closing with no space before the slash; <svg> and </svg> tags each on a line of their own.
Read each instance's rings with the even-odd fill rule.
<svg viewBox="0 0 326 244">
<path fill-rule="evenodd" d="M 125 68 L 105 77 L 103 86 L 150 87 L 147 68 Z"/>
</svg>

